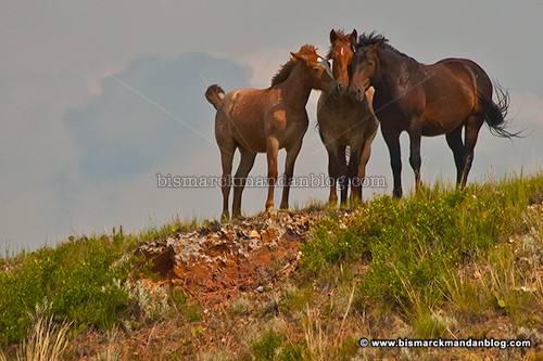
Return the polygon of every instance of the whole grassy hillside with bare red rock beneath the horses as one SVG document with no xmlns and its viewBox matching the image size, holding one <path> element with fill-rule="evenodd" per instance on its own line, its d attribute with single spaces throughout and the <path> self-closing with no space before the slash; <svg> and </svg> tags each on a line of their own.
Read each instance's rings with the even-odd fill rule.
<svg viewBox="0 0 543 361">
<path fill-rule="evenodd" d="M 173 241 L 167 269 L 137 252 Z M 71 237 L 0 268 L 0 360 L 543 360 L 543 175 Z"/>
</svg>

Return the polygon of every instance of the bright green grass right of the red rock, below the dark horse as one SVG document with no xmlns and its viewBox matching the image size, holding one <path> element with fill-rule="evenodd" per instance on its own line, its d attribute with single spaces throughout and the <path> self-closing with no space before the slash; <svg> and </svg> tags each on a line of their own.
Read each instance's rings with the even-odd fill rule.
<svg viewBox="0 0 543 361">
<path fill-rule="evenodd" d="M 494 247 L 526 231 L 523 215 L 542 190 L 542 177 L 504 179 L 463 191 L 438 184 L 401 201 L 378 198 L 348 219 L 332 214 L 317 222 L 313 238 L 303 245 L 302 271 L 314 278 L 330 265 L 349 268 L 369 254 L 369 271 L 358 284 L 362 294 L 424 319 L 447 297 L 473 297 L 472 287 L 458 280 L 449 278 L 449 284 L 462 287 L 463 296 L 440 287 L 450 270 L 489 257 L 496 269 L 510 268 L 510 255 L 496 254 Z M 496 302 L 505 302 L 506 309 L 519 305 L 519 310 L 533 304 L 525 299 L 529 296 L 501 292 L 513 282 L 504 278 L 494 274 L 487 285 Z M 477 297 L 488 304 L 489 295 Z M 468 300 L 460 302 L 467 307 Z"/>
</svg>

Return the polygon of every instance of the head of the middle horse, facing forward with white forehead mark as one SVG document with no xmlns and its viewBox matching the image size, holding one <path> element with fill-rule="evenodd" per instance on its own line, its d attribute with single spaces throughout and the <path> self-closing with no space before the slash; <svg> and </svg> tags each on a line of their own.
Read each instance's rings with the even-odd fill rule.
<svg viewBox="0 0 543 361">
<path fill-rule="evenodd" d="M 349 68 L 357 43 L 356 29 L 353 29 L 353 33 L 349 35 L 341 30 L 332 29 L 330 31 L 330 51 L 327 59 L 332 60 L 332 73 L 337 81 L 334 91 L 337 93 L 346 93 L 348 91 Z"/>
</svg>

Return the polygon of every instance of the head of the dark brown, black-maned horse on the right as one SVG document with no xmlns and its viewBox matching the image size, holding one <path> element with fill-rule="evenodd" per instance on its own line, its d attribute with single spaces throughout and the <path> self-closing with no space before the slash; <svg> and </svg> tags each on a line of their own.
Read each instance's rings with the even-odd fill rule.
<svg viewBox="0 0 543 361">
<path fill-rule="evenodd" d="M 351 85 L 349 94 L 364 100 L 366 90 L 380 79 L 379 51 L 387 40 L 384 38 L 369 46 L 358 47 L 351 60 Z"/>
</svg>

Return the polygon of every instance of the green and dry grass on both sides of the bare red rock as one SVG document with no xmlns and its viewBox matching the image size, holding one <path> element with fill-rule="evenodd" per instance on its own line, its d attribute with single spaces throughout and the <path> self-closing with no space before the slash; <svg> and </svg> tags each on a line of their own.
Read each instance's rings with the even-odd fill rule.
<svg viewBox="0 0 543 361">
<path fill-rule="evenodd" d="M 513 324 L 512 337 L 540 334 L 543 207 L 533 204 L 542 202 L 543 175 L 536 175 L 463 191 L 438 183 L 401 201 L 383 196 L 354 209 L 314 203 L 306 211 L 328 217 L 314 224 L 303 244 L 299 274 L 270 296 L 282 328 L 263 326 L 270 320 L 245 295 L 232 300 L 227 321 L 251 320 L 262 333 L 242 344 L 242 351 L 206 354 L 349 360 L 361 353 L 357 337 L 387 336 L 379 330 L 394 322 L 400 325 L 394 333 L 414 338 L 483 337 L 485 320 L 496 318 Z M 176 219 L 137 235 L 70 237 L 54 248 L 1 258 L 0 346 L 8 346 L 10 357 L 23 352 L 37 325 L 43 325 L 37 320 L 48 322 L 50 333 L 42 334 L 55 337 L 62 330 L 58 348 L 63 349 L 64 339 L 90 330 L 129 334 L 154 330 L 171 317 L 190 330 L 179 347 L 203 344 L 212 333 L 204 306 L 179 288 L 153 289 L 141 282 L 156 275 L 132 256 L 140 242 L 195 225 Z M 388 357 L 377 349 L 362 351 L 369 359 Z M 7 354 L 0 352 L 2 358 Z"/>
</svg>

